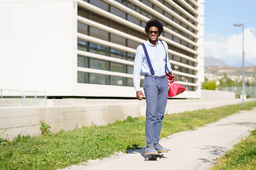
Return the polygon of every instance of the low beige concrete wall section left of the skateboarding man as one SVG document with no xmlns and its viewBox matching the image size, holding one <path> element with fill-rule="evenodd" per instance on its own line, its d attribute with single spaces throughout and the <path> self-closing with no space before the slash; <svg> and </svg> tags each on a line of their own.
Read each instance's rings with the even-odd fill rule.
<svg viewBox="0 0 256 170">
<path fill-rule="evenodd" d="M 90 125 L 108 125 L 129 115 L 140 116 L 140 103 L 90 104 L 83 106 L 3 107 L 0 108 L 1 138 L 18 134 L 40 136 L 40 120 L 51 125 L 51 132 L 70 131 Z"/>
</svg>

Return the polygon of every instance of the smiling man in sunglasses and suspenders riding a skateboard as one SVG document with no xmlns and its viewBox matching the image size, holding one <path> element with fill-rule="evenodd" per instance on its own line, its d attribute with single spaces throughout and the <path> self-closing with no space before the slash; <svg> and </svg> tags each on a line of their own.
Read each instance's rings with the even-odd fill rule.
<svg viewBox="0 0 256 170">
<path fill-rule="evenodd" d="M 147 148 L 145 150 L 145 155 L 147 155 L 158 152 L 168 152 L 166 148 L 159 145 L 159 137 L 168 97 L 166 70 L 170 71 L 168 74 L 170 74 L 173 80 L 177 81 L 178 79 L 175 75 L 172 75 L 172 68 L 170 66 L 168 55 L 166 59 L 168 45 L 164 41 L 162 41 L 162 43 L 158 40 L 158 37 L 163 32 L 163 25 L 161 22 L 156 19 L 149 20 L 145 26 L 145 31 L 148 34 L 148 40 L 144 44 L 154 69 L 154 75 L 150 72 L 143 46 L 139 45 L 134 60 L 133 82 L 137 99 L 143 100 L 143 97 L 146 96 L 147 118 L 145 132 Z M 166 61 L 168 69 L 166 69 Z M 143 84 L 145 96 L 140 90 L 141 73 L 145 74 Z"/>
</svg>

